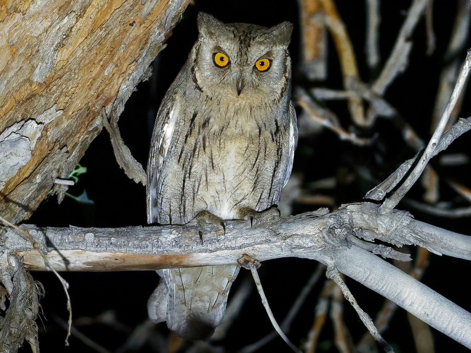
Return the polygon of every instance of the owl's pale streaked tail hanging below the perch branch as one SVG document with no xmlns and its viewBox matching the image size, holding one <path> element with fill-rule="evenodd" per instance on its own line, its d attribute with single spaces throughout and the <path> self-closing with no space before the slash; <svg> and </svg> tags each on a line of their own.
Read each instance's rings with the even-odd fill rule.
<svg viewBox="0 0 471 353">
<path fill-rule="evenodd" d="M 167 321 L 182 337 L 209 338 L 224 316 L 239 270 L 238 265 L 162 270 L 163 278 L 147 304 L 149 318 Z"/>
</svg>

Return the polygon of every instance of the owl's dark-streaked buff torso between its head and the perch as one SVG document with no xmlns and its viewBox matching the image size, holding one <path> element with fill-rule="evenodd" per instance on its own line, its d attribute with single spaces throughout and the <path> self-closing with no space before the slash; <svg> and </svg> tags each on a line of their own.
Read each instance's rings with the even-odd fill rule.
<svg viewBox="0 0 471 353">
<path fill-rule="evenodd" d="M 183 107 L 180 98 L 167 109 L 149 163 L 159 223 L 186 223 L 201 210 L 232 219 L 237 209 L 278 203 L 291 173 L 294 109 L 227 103 L 208 97 Z"/>
</svg>

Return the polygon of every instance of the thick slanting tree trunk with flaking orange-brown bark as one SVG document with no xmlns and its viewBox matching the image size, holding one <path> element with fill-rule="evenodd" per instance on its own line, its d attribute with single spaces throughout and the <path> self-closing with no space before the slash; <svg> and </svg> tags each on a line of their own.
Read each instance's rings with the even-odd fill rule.
<svg viewBox="0 0 471 353">
<path fill-rule="evenodd" d="M 0 5 L 0 214 L 18 223 L 117 117 L 189 0 Z M 117 119 L 117 118 L 115 118 Z"/>
</svg>

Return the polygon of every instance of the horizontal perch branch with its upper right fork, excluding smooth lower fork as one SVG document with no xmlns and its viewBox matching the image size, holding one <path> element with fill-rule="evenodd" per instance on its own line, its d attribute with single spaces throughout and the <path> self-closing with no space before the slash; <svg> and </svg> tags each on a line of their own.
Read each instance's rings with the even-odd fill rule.
<svg viewBox="0 0 471 353">
<path fill-rule="evenodd" d="M 226 221 L 226 231 L 207 224 L 203 243 L 191 225 L 135 226 L 125 228 L 39 228 L 24 225 L 57 271 L 124 271 L 201 265 L 234 264 L 243 255 L 264 261 L 305 257 L 324 264 L 332 252 L 352 244 L 403 258 L 366 241 L 380 239 L 402 246 L 414 244 L 435 254 L 471 259 L 471 237 L 414 220 L 407 212 L 380 215 L 379 206 L 357 203 L 326 213 L 326 209 L 280 219 L 261 217 L 252 228 L 244 220 Z M 41 255 L 14 230 L 5 228 L 4 250 L 24 258 L 30 270 L 45 270 Z M 363 245 L 362 245 L 363 244 Z"/>
</svg>

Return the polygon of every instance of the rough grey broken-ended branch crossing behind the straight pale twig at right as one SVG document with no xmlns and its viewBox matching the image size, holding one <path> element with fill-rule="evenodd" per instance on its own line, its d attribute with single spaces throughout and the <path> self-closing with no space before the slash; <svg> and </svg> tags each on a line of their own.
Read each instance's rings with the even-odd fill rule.
<svg viewBox="0 0 471 353">
<path fill-rule="evenodd" d="M 449 128 L 441 137 L 432 153 L 431 157 L 436 156 L 439 152 L 445 150 L 457 137 L 471 129 L 471 117 L 467 119 L 459 119 L 455 125 Z M 386 180 L 380 185 L 375 186 L 372 190 L 366 193 L 366 199 L 372 199 L 380 201 L 384 198 L 386 193 L 389 193 L 392 189 L 398 185 L 402 178 L 407 174 L 409 169 L 414 165 L 415 160 L 419 157 L 420 152 L 417 153 L 414 158 L 406 160 L 402 163 L 394 173 L 392 173 Z"/>
</svg>

